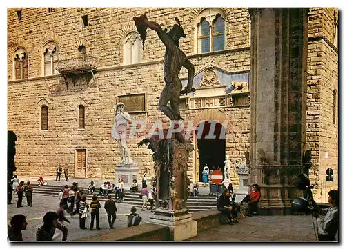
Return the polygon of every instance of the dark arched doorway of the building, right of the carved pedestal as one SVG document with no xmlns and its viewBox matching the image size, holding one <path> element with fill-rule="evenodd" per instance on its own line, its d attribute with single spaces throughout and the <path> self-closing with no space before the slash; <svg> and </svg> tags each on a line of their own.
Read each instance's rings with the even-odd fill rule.
<svg viewBox="0 0 345 249">
<path fill-rule="evenodd" d="M 224 161 L 225 161 L 225 137 L 220 138 L 221 134 L 225 135 L 224 127 L 221 123 L 216 123 L 214 139 L 205 138 L 210 132 L 211 123 L 209 121 L 204 121 L 204 128 L 202 134 L 197 138 L 197 150 L 199 153 L 199 181 L 202 181 L 202 170 L 204 166 L 208 166 L 210 170 L 216 170 L 219 168 L 221 171 L 224 170 Z M 199 123 L 200 127 L 202 123 Z M 222 131 L 223 130 L 223 131 Z M 222 133 L 223 132 L 223 133 Z M 197 136 L 197 131 L 195 131 Z M 211 134 L 212 135 L 212 134 Z"/>
</svg>

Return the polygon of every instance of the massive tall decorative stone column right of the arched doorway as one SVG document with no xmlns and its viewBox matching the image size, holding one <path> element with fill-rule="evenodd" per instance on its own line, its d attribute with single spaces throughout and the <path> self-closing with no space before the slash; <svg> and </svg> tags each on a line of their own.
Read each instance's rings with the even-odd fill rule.
<svg viewBox="0 0 345 249">
<path fill-rule="evenodd" d="M 308 9 L 250 8 L 250 177 L 260 208 L 284 214 L 301 195 L 306 142 Z"/>
</svg>

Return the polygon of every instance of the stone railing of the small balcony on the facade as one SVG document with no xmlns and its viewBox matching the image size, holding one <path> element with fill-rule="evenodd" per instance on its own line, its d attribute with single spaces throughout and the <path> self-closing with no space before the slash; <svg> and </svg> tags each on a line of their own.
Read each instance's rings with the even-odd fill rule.
<svg viewBox="0 0 345 249">
<path fill-rule="evenodd" d="M 57 71 L 61 74 L 89 70 L 97 71 L 97 59 L 95 57 L 85 56 L 57 61 Z"/>
</svg>

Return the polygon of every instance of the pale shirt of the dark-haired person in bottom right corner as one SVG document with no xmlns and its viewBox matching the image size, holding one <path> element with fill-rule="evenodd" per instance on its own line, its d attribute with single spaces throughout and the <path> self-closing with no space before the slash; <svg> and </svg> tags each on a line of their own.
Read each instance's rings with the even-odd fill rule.
<svg viewBox="0 0 345 249">
<path fill-rule="evenodd" d="M 339 228 L 339 209 L 337 206 L 330 208 L 319 208 L 319 214 L 325 215 L 324 219 L 317 218 L 320 235 L 335 236 Z"/>
</svg>

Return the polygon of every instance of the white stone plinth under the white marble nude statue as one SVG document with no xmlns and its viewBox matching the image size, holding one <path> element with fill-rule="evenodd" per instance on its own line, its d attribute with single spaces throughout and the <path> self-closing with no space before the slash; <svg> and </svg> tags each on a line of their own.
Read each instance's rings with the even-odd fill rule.
<svg viewBox="0 0 345 249">
<path fill-rule="evenodd" d="M 119 182 L 119 179 L 124 180 L 124 188 L 130 188 L 133 180 L 138 181 L 139 166 L 137 165 L 137 163 L 118 163 L 115 167 L 115 184 Z"/>
</svg>

